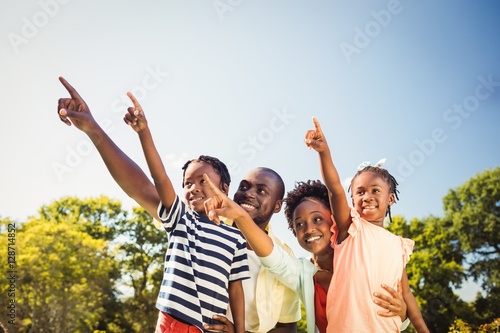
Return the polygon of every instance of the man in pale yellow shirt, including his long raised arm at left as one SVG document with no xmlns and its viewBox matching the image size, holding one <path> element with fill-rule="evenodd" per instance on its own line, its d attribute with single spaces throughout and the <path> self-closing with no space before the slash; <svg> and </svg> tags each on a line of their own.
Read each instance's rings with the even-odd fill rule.
<svg viewBox="0 0 500 333">
<path fill-rule="evenodd" d="M 57 112 L 61 121 L 68 126 L 74 125 L 91 139 L 111 176 L 122 190 L 151 216 L 157 218 L 160 197 L 154 184 L 99 126 L 78 92 L 64 78 L 60 77 L 59 80 L 70 94 L 70 98 L 59 99 Z M 276 172 L 266 168 L 252 170 L 247 176 L 240 183 L 234 199 L 248 210 L 254 221 L 265 230 L 271 216 L 281 209 L 284 195 L 283 181 Z M 276 244 L 281 245 L 282 242 L 276 240 Z M 286 247 L 286 245 L 283 246 Z M 249 260 L 249 264 L 251 271 L 257 274 L 247 280 L 251 281 L 251 285 L 245 288 L 247 305 L 245 315 L 248 319 L 253 318 L 251 325 L 256 327 L 247 328 L 247 330 L 273 333 L 296 332 L 296 322 L 300 319 L 297 296 L 270 276 L 267 271 L 263 271 L 260 268 L 260 261 L 256 257 L 254 259 L 256 260 Z M 253 265 L 252 262 L 258 266 Z M 248 295 L 253 295 L 252 300 L 247 300 L 247 289 Z M 257 294 L 257 291 L 263 294 Z M 216 329 L 232 332 L 232 323 L 224 317 L 217 317 L 223 324 L 215 325 Z"/>
</svg>

